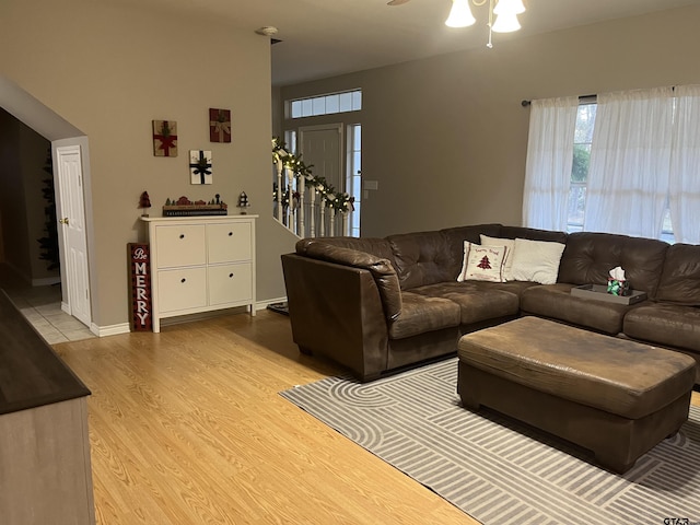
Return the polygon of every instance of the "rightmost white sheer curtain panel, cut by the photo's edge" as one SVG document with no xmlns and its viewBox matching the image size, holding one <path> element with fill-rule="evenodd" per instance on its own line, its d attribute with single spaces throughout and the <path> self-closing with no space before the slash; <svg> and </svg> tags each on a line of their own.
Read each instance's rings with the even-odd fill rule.
<svg viewBox="0 0 700 525">
<path fill-rule="evenodd" d="M 676 88 L 669 205 L 676 242 L 700 244 L 700 85 Z"/>
</svg>

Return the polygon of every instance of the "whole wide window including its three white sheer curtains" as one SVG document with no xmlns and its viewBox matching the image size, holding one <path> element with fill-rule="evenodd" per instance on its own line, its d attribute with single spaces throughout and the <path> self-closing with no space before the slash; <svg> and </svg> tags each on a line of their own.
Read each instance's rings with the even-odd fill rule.
<svg viewBox="0 0 700 525">
<path fill-rule="evenodd" d="M 523 225 L 700 244 L 700 84 L 533 101 Z"/>
</svg>

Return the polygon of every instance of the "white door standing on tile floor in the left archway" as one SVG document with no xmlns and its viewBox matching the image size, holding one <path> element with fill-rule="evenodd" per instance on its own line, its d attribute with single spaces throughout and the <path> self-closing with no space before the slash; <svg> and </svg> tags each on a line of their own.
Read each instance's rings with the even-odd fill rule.
<svg viewBox="0 0 700 525">
<path fill-rule="evenodd" d="M 57 213 L 62 238 L 61 264 L 68 313 L 85 325 L 92 323 L 90 272 L 80 145 L 56 148 L 58 176 Z"/>
</svg>

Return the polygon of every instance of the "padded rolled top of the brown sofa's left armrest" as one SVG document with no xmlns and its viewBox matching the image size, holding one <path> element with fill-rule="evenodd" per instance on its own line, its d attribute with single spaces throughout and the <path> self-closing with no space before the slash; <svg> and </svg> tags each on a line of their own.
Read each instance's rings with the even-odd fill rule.
<svg viewBox="0 0 700 525">
<path fill-rule="evenodd" d="M 401 288 L 396 270 L 388 259 L 366 252 L 313 241 L 298 245 L 298 253 L 300 250 L 306 257 L 368 270 L 376 283 L 386 318 L 393 320 L 401 313 Z"/>
</svg>

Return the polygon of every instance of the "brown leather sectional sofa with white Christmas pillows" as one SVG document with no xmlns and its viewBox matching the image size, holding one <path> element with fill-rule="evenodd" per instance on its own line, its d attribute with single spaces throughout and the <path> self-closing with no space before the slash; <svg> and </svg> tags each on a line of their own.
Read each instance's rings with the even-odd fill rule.
<svg viewBox="0 0 700 525">
<path fill-rule="evenodd" d="M 480 235 L 565 244 L 557 282 L 457 282 L 464 242 Z M 617 266 L 648 300 L 571 294 Z M 467 332 L 536 315 L 696 359 L 700 384 L 700 246 L 606 233 L 480 224 L 385 238 L 324 237 L 282 255 L 294 341 L 361 381 L 454 354 Z"/>
</svg>

